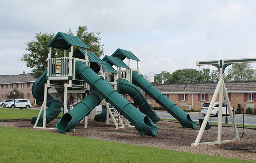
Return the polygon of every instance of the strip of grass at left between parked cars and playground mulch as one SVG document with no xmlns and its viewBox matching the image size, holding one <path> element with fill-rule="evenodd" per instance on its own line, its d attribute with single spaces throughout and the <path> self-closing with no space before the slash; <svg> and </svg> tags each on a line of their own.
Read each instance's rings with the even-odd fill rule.
<svg viewBox="0 0 256 163">
<path fill-rule="evenodd" d="M 20 119 L 38 116 L 39 110 L 0 108 L 0 119 Z M 63 114 L 60 113 L 59 116 Z"/>
</svg>

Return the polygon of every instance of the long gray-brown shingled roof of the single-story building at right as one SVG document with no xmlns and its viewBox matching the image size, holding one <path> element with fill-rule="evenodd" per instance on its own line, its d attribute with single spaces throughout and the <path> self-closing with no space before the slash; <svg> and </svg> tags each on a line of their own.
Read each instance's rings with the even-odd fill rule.
<svg viewBox="0 0 256 163">
<path fill-rule="evenodd" d="M 229 93 L 256 93 L 256 81 L 225 82 L 225 85 Z M 214 93 L 217 82 L 200 84 L 155 84 L 154 86 L 162 93 Z"/>
</svg>

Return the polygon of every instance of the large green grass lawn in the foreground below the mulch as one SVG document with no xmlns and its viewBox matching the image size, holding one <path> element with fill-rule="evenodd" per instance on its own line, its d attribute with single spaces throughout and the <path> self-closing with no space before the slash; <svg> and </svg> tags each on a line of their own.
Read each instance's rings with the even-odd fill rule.
<svg viewBox="0 0 256 163">
<path fill-rule="evenodd" d="M 0 127 L 0 162 L 246 162 L 216 156 L 140 147 L 61 133 Z"/>
</svg>

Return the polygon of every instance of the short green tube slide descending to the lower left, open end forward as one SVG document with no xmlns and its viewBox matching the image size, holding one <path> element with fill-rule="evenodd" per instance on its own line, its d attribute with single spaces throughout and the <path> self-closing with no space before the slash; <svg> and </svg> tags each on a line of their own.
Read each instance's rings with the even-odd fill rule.
<svg viewBox="0 0 256 163">
<path fill-rule="evenodd" d="M 101 100 L 103 98 L 97 92 L 89 93 L 86 98 L 61 117 L 60 121 L 56 124 L 58 131 L 72 132 L 78 123 L 99 105 Z"/>
</svg>

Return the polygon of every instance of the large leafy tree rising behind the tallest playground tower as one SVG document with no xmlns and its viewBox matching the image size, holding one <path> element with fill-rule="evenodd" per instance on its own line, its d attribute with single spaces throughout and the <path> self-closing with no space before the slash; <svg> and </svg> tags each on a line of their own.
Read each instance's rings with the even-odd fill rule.
<svg viewBox="0 0 256 163">
<path fill-rule="evenodd" d="M 69 34 L 74 35 L 70 29 Z M 90 47 L 90 51 L 101 56 L 104 53 L 104 44 L 100 43 L 101 38 L 99 38 L 99 34 L 99 32 L 96 34 L 94 34 L 94 32 L 88 32 L 87 26 L 79 26 L 78 31 L 76 31 L 76 36 L 81 38 Z M 35 78 L 38 78 L 47 67 L 47 57 L 49 53 L 47 44 L 53 37 L 54 34 L 52 33 L 46 32 L 42 34 L 42 32 L 38 32 L 35 33 L 36 40 L 25 43 L 27 44 L 26 51 L 30 53 L 23 54 L 21 60 L 26 62 L 27 67 L 33 69 L 31 72 Z M 63 50 L 52 48 L 52 57 L 63 57 Z"/>
</svg>

